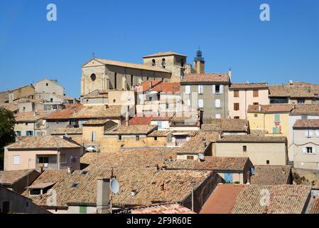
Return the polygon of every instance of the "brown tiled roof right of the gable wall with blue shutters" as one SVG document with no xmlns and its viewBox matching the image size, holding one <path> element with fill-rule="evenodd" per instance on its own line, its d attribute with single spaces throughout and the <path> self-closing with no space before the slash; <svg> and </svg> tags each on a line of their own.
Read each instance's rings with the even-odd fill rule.
<svg viewBox="0 0 319 228">
<path fill-rule="evenodd" d="M 291 184 L 291 166 L 255 165 L 252 185 L 288 185 Z"/>
</svg>

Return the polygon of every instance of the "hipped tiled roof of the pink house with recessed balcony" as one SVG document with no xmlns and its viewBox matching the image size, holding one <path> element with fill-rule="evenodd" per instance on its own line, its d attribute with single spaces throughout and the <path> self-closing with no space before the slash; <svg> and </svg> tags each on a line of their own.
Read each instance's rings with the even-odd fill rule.
<svg viewBox="0 0 319 228">
<path fill-rule="evenodd" d="M 80 147 L 75 143 L 64 140 L 63 138 L 59 138 L 57 136 L 32 136 L 26 137 L 18 142 L 15 142 L 8 146 L 8 150 L 13 149 L 42 149 L 42 148 L 76 148 Z"/>
</svg>

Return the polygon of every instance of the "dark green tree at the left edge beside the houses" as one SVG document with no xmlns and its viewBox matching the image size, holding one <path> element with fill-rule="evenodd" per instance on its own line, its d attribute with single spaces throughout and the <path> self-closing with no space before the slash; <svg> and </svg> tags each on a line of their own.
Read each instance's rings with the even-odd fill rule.
<svg viewBox="0 0 319 228">
<path fill-rule="evenodd" d="M 14 142 L 14 122 L 13 113 L 0 108 L 0 170 L 4 167 L 4 147 Z"/>
</svg>

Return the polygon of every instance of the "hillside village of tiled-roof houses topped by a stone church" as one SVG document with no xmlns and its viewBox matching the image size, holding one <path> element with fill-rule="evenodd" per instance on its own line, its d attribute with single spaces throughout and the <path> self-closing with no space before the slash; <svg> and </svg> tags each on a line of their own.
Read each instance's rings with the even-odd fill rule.
<svg viewBox="0 0 319 228">
<path fill-rule="evenodd" d="M 1 92 L 0 211 L 319 214 L 319 85 L 236 81 L 160 52 L 83 63 L 80 98 L 51 79 Z"/>
</svg>

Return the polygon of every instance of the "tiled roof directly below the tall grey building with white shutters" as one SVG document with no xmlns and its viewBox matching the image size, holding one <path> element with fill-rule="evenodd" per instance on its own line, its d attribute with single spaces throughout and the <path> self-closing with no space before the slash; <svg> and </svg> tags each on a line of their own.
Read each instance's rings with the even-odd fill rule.
<svg viewBox="0 0 319 228">
<path fill-rule="evenodd" d="M 202 125 L 203 131 L 244 132 L 248 131 L 248 120 L 239 119 L 212 119 L 210 123 Z"/>
</svg>

